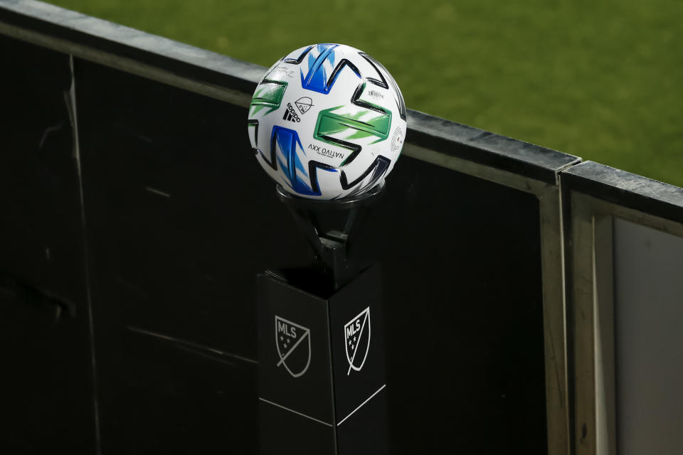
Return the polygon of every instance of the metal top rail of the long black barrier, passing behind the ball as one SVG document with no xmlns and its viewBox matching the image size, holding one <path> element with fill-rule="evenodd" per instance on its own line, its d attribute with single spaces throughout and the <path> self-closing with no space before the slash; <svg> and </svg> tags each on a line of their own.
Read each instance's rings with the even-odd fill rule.
<svg viewBox="0 0 683 455">
<path fill-rule="evenodd" d="M 33 0 L 0 0 L 0 33 L 248 105 L 265 68 Z M 408 144 L 556 184 L 576 156 L 408 109 Z M 419 154 L 411 156 L 420 159 Z"/>
</svg>

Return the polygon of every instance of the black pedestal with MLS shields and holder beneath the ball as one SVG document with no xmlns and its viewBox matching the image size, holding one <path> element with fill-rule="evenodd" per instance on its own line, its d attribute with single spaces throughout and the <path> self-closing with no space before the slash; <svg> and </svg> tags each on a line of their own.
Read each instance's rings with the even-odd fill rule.
<svg viewBox="0 0 683 455">
<path fill-rule="evenodd" d="M 309 200 L 277 187 L 315 259 L 258 275 L 261 454 L 388 454 L 381 274 L 355 249 L 383 190 Z"/>
</svg>

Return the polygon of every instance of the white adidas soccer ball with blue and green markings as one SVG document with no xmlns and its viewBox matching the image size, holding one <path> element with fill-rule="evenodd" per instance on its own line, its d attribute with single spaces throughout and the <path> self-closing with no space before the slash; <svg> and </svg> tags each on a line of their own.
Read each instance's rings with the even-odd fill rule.
<svg viewBox="0 0 683 455">
<path fill-rule="evenodd" d="M 361 50 L 314 44 L 272 65 L 249 107 L 259 164 L 285 191 L 358 196 L 383 183 L 406 137 L 406 104 L 386 68 Z"/>
</svg>

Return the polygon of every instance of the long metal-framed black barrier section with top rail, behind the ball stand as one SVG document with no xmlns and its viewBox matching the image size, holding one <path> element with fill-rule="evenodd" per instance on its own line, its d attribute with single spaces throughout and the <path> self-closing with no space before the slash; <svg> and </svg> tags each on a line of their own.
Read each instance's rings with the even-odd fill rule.
<svg viewBox="0 0 683 455">
<path fill-rule="evenodd" d="M 0 49 L 2 446 L 258 453 L 255 276 L 311 257 L 248 144 L 265 68 L 35 1 L 0 3 Z M 382 266 L 391 453 L 581 450 L 559 186 L 580 160 L 408 126 L 359 245 Z"/>
</svg>

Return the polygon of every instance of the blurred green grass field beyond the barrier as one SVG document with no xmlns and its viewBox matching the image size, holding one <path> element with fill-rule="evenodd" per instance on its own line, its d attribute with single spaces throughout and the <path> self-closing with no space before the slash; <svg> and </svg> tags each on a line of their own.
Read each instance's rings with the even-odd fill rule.
<svg viewBox="0 0 683 455">
<path fill-rule="evenodd" d="M 680 0 L 53 0 L 270 66 L 380 60 L 412 109 L 683 186 Z"/>
</svg>

